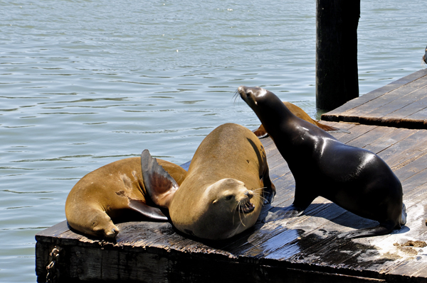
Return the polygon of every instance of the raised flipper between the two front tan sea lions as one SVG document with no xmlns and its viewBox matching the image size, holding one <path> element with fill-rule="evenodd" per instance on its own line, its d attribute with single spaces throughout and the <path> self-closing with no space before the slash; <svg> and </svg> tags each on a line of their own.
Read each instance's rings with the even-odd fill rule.
<svg viewBox="0 0 427 283">
<path fill-rule="evenodd" d="M 160 207 L 169 208 L 169 204 L 179 188 L 174 178 L 159 165 L 148 150 L 141 154 L 142 179 L 149 197 Z"/>
</svg>

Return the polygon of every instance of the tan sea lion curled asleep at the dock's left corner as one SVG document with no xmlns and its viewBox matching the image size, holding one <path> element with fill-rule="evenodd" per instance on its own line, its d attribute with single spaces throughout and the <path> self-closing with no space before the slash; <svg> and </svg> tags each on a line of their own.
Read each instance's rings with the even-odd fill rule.
<svg viewBox="0 0 427 283">
<path fill-rule="evenodd" d="M 166 160 L 159 165 L 181 184 L 186 170 Z M 114 238 L 119 228 L 112 222 L 126 219 L 129 211 L 167 221 L 167 216 L 153 207 L 147 198 L 141 170 L 141 158 L 117 160 L 86 174 L 75 184 L 65 201 L 65 216 L 76 231 L 102 238 Z"/>
</svg>

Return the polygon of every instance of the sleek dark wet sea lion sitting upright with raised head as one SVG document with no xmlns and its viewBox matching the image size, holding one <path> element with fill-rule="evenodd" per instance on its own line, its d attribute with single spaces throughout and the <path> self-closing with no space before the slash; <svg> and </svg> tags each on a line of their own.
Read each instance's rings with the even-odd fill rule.
<svg viewBox="0 0 427 283">
<path fill-rule="evenodd" d="M 295 178 L 295 199 L 267 221 L 300 215 L 323 196 L 379 226 L 342 233 L 339 238 L 385 235 L 406 223 L 401 182 L 378 155 L 339 142 L 297 118 L 278 96 L 260 87 L 238 87 L 288 162 Z"/>
</svg>

